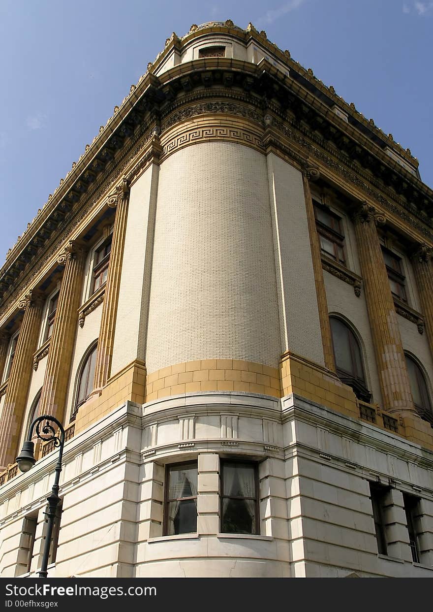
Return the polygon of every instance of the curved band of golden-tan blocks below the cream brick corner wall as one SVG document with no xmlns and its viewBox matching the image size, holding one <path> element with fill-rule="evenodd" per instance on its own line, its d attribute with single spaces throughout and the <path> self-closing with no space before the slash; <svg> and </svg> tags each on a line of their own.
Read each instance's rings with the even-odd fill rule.
<svg viewBox="0 0 433 612">
<path fill-rule="evenodd" d="M 147 376 L 146 401 L 198 391 L 245 391 L 281 397 L 277 368 L 242 359 L 198 359 Z"/>
</svg>

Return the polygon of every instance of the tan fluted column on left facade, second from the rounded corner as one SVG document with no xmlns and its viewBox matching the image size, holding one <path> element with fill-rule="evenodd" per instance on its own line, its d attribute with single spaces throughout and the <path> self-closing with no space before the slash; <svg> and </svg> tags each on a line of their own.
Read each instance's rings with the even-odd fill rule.
<svg viewBox="0 0 433 612">
<path fill-rule="evenodd" d="M 64 264 L 65 270 L 57 301 L 39 412 L 40 414 L 52 414 L 60 420 L 63 418 L 72 351 L 78 326 L 85 255 L 84 249 L 79 244 L 70 241 L 57 259 L 59 264 Z"/>
</svg>

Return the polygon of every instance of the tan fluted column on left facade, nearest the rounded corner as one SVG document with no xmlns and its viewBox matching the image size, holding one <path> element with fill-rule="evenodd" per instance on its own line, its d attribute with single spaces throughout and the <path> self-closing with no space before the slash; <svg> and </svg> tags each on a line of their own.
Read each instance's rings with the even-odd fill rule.
<svg viewBox="0 0 433 612">
<path fill-rule="evenodd" d="M 120 274 L 124 257 L 128 202 L 129 188 L 127 181 L 124 179 L 122 186 L 117 187 L 116 194 L 108 201 L 108 206 L 116 206 L 117 210 L 98 340 L 95 389 L 101 389 L 105 385 L 110 375 L 111 360 L 113 359 L 114 329 L 116 327 Z"/>
</svg>

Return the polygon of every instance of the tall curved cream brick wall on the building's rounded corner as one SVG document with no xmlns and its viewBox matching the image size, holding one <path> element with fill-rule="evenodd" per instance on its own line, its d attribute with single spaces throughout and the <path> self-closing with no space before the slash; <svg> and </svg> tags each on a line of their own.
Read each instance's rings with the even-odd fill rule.
<svg viewBox="0 0 433 612">
<path fill-rule="evenodd" d="M 146 365 L 224 358 L 278 367 L 265 157 L 194 144 L 160 166 Z"/>
</svg>

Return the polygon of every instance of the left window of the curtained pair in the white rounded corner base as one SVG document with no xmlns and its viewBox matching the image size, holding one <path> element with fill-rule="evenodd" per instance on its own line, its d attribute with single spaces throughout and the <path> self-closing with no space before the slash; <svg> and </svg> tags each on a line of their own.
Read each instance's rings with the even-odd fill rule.
<svg viewBox="0 0 433 612">
<path fill-rule="evenodd" d="M 166 469 L 164 535 L 197 531 L 197 461 Z"/>
</svg>

